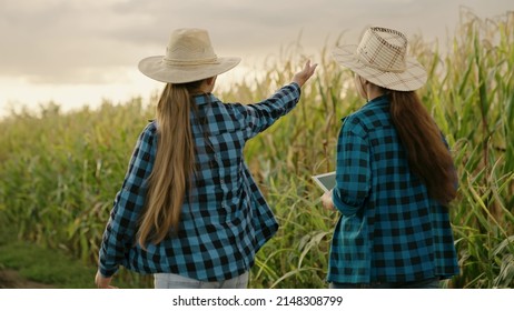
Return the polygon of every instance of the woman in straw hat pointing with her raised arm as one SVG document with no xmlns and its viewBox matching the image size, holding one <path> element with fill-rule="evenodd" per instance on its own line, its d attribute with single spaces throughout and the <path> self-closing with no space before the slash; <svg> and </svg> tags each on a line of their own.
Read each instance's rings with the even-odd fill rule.
<svg viewBox="0 0 514 311">
<path fill-rule="evenodd" d="M 239 61 L 217 57 L 201 29 L 174 31 L 166 56 L 140 61 L 144 74 L 167 84 L 116 195 L 99 288 L 111 287 L 119 265 L 154 273 L 156 288 L 246 288 L 256 252 L 278 225 L 243 149 L 295 108 L 316 64 L 261 102 L 226 104 L 211 91 Z"/>
</svg>

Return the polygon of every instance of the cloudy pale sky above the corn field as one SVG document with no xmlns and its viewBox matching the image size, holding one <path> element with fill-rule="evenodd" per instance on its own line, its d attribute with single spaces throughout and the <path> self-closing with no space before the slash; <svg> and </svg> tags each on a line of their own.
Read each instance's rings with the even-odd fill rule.
<svg viewBox="0 0 514 311">
<path fill-rule="evenodd" d="M 217 54 L 243 57 L 245 69 L 298 38 L 307 52 L 342 33 L 354 42 L 369 24 L 444 41 L 461 6 L 481 18 L 514 10 L 512 0 L 0 0 L 0 104 L 149 94 L 161 84 L 137 62 L 164 53 L 176 28 L 208 29 Z"/>
</svg>

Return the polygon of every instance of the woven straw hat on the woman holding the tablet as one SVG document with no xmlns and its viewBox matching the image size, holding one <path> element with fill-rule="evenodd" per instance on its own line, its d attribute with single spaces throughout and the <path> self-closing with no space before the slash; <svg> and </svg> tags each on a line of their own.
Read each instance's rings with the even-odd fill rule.
<svg viewBox="0 0 514 311">
<path fill-rule="evenodd" d="M 407 38 L 399 31 L 372 27 L 358 46 L 342 46 L 334 59 L 358 76 L 379 87 L 396 91 L 414 91 L 426 82 L 426 71 L 407 57 Z"/>
</svg>

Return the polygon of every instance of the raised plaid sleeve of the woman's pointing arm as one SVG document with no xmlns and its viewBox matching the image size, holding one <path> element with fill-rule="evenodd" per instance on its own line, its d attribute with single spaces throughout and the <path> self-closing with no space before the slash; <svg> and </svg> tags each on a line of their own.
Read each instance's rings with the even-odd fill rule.
<svg viewBox="0 0 514 311">
<path fill-rule="evenodd" d="M 300 98 L 300 87 L 293 82 L 261 102 L 239 106 L 240 109 L 244 109 L 247 139 L 266 130 L 280 117 L 291 111 Z"/>
</svg>

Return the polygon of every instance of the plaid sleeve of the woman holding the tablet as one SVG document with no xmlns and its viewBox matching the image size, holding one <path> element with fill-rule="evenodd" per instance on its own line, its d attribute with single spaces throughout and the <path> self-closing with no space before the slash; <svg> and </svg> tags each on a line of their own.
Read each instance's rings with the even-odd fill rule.
<svg viewBox="0 0 514 311">
<path fill-rule="evenodd" d="M 345 122 L 346 123 L 346 122 Z M 334 205 L 344 215 L 362 209 L 370 189 L 369 147 L 362 134 L 343 126 L 337 142 L 336 187 Z"/>
</svg>

